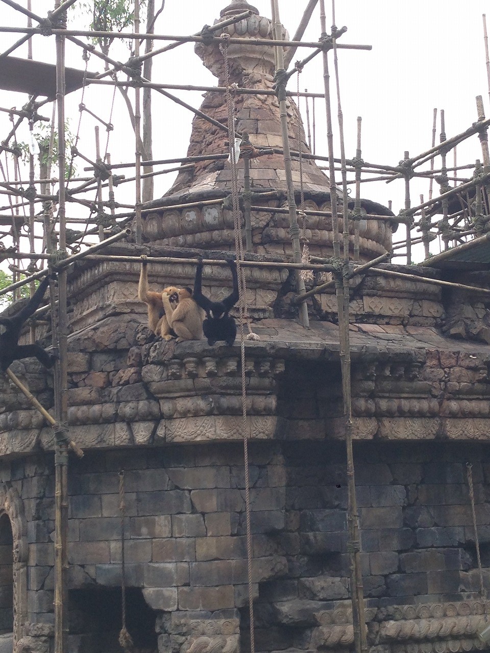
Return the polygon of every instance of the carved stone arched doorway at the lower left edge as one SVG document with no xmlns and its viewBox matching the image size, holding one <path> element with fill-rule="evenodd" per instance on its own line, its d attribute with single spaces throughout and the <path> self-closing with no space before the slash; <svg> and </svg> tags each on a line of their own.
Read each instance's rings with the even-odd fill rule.
<svg viewBox="0 0 490 653">
<path fill-rule="evenodd" d="M 0 547 L 0 633 L 12 633 L 16 650 L 27 619 L 27 522 L 22 499 L 6 485 L 0 485 Z"/>
</svg>

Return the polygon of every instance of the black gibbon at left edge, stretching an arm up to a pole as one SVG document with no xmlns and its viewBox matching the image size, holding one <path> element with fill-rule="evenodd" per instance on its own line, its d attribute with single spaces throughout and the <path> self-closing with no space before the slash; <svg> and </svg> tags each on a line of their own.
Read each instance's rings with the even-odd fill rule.
<svg viewBox="0 0 490 653">
<path fill-rule="evenodd" d="M 48 354 L 38 343 L 33 345 L 17 344 L 22 325 L 39 308 L 48 284 L 49 278 L 44 277 L 29 303 L 13 317 L 0 315 L 0 368 L 3 372 L 7 370 L 14 360 L 20 360 L 21 358 L 36 357 L 47 368 L 52 367 L 54 361 L 57 360 L 56 355 Z"/>
</svg>

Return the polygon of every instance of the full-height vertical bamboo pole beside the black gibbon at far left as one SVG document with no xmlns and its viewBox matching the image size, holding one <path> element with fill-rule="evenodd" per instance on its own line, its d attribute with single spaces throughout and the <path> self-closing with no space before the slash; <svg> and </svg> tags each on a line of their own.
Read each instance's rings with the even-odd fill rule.
<svg viewBox="0 0 490 653">
<path fill-rule="evenodd" d="M 56 0 L 55 8 L 60 0 Z M 56 104 L 59 168 L 59 251 L 66 249 L 65 224 L 65 37 L 56 35 Z M 67 424 L 67 271 L 58 274 L 59 303 L 57 340 L 59 361 L 55 369 L 55 417 Z M 68 445 L 62 438 L 55 443 L 55 541 L 54 541 L 54 650 L 67 650 L 67 534 L 68 534 Z"/>
</svg>

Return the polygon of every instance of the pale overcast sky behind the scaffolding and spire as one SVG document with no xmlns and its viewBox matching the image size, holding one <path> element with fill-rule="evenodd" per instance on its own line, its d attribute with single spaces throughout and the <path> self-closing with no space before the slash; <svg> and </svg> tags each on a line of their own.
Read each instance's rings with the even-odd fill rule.
<svg viewBox="0 0 490 653">
<path fill-rule="evenodd" d="M 1 0 L 0 0 L 1 1 Z M 20 0 L 27 6 L 27 0 Z M 159 6 L 158 0 L 155 2 Z M 261 15 L 270 16 L 269 0 L 252 3 Z M 295 32 L 307 0 L 280 0 L 280 18 L 289 33 Z M 33 0 L 33 11 L 45 15 L 53 3 Z M 226 5 L 223 0 L 166 0 L 165 9 L 157 21 L 155 32 L 186 35 L 199 31 L 204 24 L 212 24 Z M 327 7 L 327 26 L 331 25 L 331 3 Z M 18 14 L 7 5 L 0 5 L 3 25 L 26 24 L 25 16 Z M 346 25 L 348 31 L 342 42 L 351 44 L 370 44 L 372 50 L 340 50 L 340 95 L 344 113 L 346 154 L 355 155 L 357 116 L 363 118 L 362 153 L 363 159 L 370 163 L 397 165 L 404 151 L 410 156 L 425 151 L 431 146 L 434 108 L 446 112 L 446 134 L 455 135 L 464 131 L 476 120 L 476 95 L 483 96 L 487 116 L 490 116 L 485 49 L 483 42 L 482 14 L 488 7 L 484 0 L 342 0 L 336 2 L 336 25 Z M 143 10 L 144 11 L 144 10 Z M 489 16 L 490 23 L 490 16 Z M 84 27 L 80 13 L 71 12 L 71 27 Z M 490 25 L 489 25 L 490 29 Z M 304 40 L 319 37 L 319 9 L 317 8 Z M 20 35 L 2 35 L 1 50 L 14 42 Z M 54 62 L 54 38 L 41 36 L 33 40 L 35 59 Z M 308 51 L 302 49 L 301 56 Z M 15 56 L 27 56 L 27 49 L 20 48 Z M 114 59 L 125 61 L 129 56 L 126 45 L 114 46 Z M 99 63 L 100 62 L 100 63 Z M 67 65 L 84 67 L 80 50 L 67 45 Z M 101 71 L 103 64 L 91 57 L 89 70 Z M 331 66 L 333 74 L 333 65 Z M 193 44 L 184 44 L 176 50 L 155 58 L 153 79 L 155 82 L 170 84 L 212 85 L 215 79 L 202 65 L 193 52 Z M 333 76 L 331 82 L 333 82 Z M 301 74 L 300 86 L 309 91 L 323 92 L 323 71 L 321 57 L 316 57 Z M 335 84 L 332 84 L 332 88 Z M 289 88 L 295 90 L 296 80 L 291 79 Z M 189 104 L 198 107 L 201 93 L 176 91 L 176 95 Z M 0 106 L 20 107 L 25 96 L 0 93 Z M 84 103 L 88 108 L 108 120 L 112 90 L 90 87 L 86 90 Z M 71 131 L 78 124 L 78 104 L 80 92 L 67 97 L 67 116 Z M 301 106 L 304 112 L 304 104 Z M 333 118 L 336 131 L 336 97 L 333 97 Z M 48 107 L 43 110 L 50 115 Z M 159 118 L 161 122 L 159 123 Z M 186 154 L 193 115 L 177 107 L 171 101 L 154 94 L 154 158 L 180 157 Z M 325 104 L 316 101 L 318 154 L 327 155 L 325 139 Z M 134 160 L 134 142 L 127 110 L 116 95 L 112 123 L 114 132 L 110 135 L 108 151 L 112 161 Z M 83 141 L 80 151 L 94 158 L 93 126 L 95 121 L 84 114 L 82 119 Z M 10 123 L 5 114 L 0 115 L 0 139 L 5 138 Z M 105 131 L 102 127 L 103 146 Z M 439 140 L 440 126 L 436 139 Z M 20 140 L 27 140 L 26 132 L 20 131 Z M 339 156 L 338 148 L 335 153 Z M 2 155 L 2 162 L 5 162 Z M 452 153 L 448 165 L 452 165 Z M 474 137 L 466 146 L 459 146 L 457 163 L 474 163 L 481 158 L 480 142 Z M 440 159 L 436 160 L 439 167 Z M 80 162 L 78 172 L 84 163 Z M 11 167 L 11 164 L 10 164 Z M 127 176 L 133 174 L 127 171 Z M 466 175 L 466 173 L 463 173 Z M 155 197 L 163 195 L 174 179 L 174 174 L 157 178 Z M 414 184 L 412 205 L 419 203 L 419 193 L 427 197 L 429 182 Z M 434 195 L 437 194 L 434 189 Z M 367 183 L 362 187 L 363 197 L 387 204 L 393 200 L 395 213 L 402 208 L 404 201 L 403 182 L 386 184 Z M 118 196 L 116 195 L 116 199 Z M 123 201 L 123 200 L 122 200 Z M 5 202 L 6 204 L 7 202 Z M 401 231 L 401 230 L 400 230 Z M 395 240 L 398 235 L 395 236 Z"/>
</svg>

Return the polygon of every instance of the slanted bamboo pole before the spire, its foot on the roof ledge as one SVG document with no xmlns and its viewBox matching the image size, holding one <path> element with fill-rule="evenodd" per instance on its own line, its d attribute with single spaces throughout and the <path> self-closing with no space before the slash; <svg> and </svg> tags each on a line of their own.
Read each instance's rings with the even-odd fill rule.
<svg viewBox="0 0 490 653">
<path fill-rule="evenodd" d="M 276 17 L 274 24 L 274 31 L 276 40 L 282 39 L 282 25 L 280 24 L 278 0 L 270 0 L 271 7 Z M 277 71 L 284 72 L 284 50 L 281 46 L 275 46 L 277 57 Z M 282 149 L 284 151 L 284 169 L 286 170 L 286 185 L 287 185 L 287 205 L 289 208 L 289 232 L 291 234 L 291 242 L 293 243 L 293 257 L 295 263 L 301 263 L 301 244 L 299 242 L 299 226 L 297 216 L 297 206 L 295 202 L 295 193 L 293 186 L 293 172 L 291 169 L 291 151 L 289 150 L 289 134 L 287 131 L 287 109 L 286 109 L 286 81 L 278 82 L 278 101 L 281 118 L 282 130 Z M 296 287 L 298 293 L 301 295 L 306 292 L 304 281 L 296 270 Z M 308 319 L 308 306 L 306 302 L 301 302 L 299 306 L 299 321 L 303 327 L 309 327 L 310 321 Z"/>
</svg>

